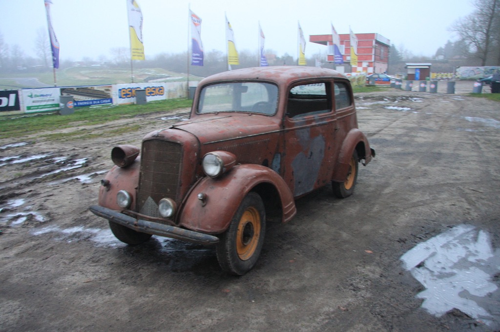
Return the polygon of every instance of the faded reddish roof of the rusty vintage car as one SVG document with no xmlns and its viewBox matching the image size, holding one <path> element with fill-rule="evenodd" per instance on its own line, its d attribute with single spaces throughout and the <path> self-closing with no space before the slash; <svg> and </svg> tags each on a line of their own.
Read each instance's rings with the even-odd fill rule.
<svg viewBox="0 0 500 332">
<path fill-rule="evenodd" d="M 327 68 L 306 66 L 269 66 L 224 71 L 202 79 L 199 84 L 202 85 L 221 80 L 242 79 L 258 79 L 275 83 L 286 83 L 294 80 L 320 77 L 346 78 L 338 71 Z"/>
</svg>

